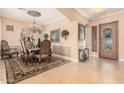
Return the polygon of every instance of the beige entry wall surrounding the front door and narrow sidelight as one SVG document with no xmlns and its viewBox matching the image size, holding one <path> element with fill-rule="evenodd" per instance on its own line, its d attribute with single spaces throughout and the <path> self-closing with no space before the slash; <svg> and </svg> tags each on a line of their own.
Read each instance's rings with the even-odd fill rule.
<svg viewBox="0 0 124 93">
<path fill-rule="evenodd" d="M 90 22 L 91 26 L 101 24 L 101 23 L 108 23 L 112 21 L 119 21 L 119 59 L 124 59 L 124 12 L 113 14 L 110 16 L 102 17 L 94 19 Z M 92 41 L 91 41 L 91 26 L 89 27 L 88 32 L 88 46 L 90 48 L 90 54 L 98 56 L 98 52 L 92 52 Z M 97 48 L 99 50 L 99 27 L 97 33 Z"/>
</svg>

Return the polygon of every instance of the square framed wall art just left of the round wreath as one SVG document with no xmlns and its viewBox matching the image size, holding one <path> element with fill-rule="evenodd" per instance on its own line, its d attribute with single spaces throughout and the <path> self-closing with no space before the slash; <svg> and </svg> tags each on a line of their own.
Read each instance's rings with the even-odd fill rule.
<svg viewBox="0 0 124 93">
<path fill-rule="evenodd" d="M 53 43 L 60 43 L 60 29 L 50 31 L 50 40 Z"/>
</svg>

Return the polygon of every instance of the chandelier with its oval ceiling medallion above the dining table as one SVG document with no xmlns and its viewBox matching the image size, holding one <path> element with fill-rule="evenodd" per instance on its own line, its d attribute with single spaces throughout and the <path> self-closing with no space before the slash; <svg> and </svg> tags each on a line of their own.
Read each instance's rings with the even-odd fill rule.
<svg viewBox="0 0 124 93">
<path fill-rule="evenodd" d="M 23 31 L 31 31 L 33 33 L 38 32 L 39 34 L 41 34 L 42 29 L 41 29 L 41 27 L 39 25 L 36 24 L 36 21 L 35 21 L 36 17 L 41 16 L 41 13 L 39 13 L 37 11 L 34 11 L 34 10 L 29 10 L 29 11 L 27 11 L 27 14 L 32 16 L 34 18 L 34 20 L 33 20 L 32 26 L 31 27 L 25 27 L 23 29 Z"/>
</svg>

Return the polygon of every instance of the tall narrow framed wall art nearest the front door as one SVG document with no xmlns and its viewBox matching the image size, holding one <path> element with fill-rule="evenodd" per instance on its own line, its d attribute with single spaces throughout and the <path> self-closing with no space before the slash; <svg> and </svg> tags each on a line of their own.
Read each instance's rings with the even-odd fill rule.
<svg viewBox="0 0 124 93">
<path fill-rule="evenodd" d="M 78 24 L 78 40 L 85 40 L 85 26 Z"/>
</svg>

